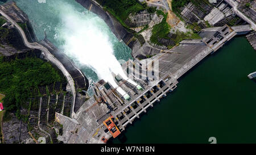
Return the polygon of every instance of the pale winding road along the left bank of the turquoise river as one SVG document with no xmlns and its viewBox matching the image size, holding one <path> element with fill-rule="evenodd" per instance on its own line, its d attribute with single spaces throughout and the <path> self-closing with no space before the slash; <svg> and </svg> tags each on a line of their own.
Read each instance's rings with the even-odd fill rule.
<svg viewBox="0 0 256 155">
<path fill-rule="evenodd" d="M 7 20 L 9 20 L 9 22 L 11 24 L 13 24 L 17 28 L 20 35 L 22 36 L 23 42 L 26 45 L 26 47 L 33 48 L 33 49 L 39 49 L 40 51 L 44 52 L 45 58 L 47 60 L 51 61 L 53 64 L 55 64 L 61 70 L 61 72 L 64 74 L 64 76 L 67 78 L 67 81 L 68 81 L 68 83 L 71 87 L 71 91 L 72 91 L 72 94 L 73 94 L 72 117 L 74 117 L 76 115 L 75 112 L 74 112 L 74 107 L 75 107 L 75 102 L 76 102 L 76 89 L 75 89 L 75 82 L 73 81 L 73 78 L 71 77 L 71 75 L 64 68 L 63 64 L 61 64 L 61 62 L 59 60 L 57 60 L 57 58 L 55 58 L 51 54 L 51 52 L 48 51 L 47 48 L 43 47 L 42 45 L 40 45 L 38 43 L 28 42 L 27 37 L 26 37 L 24 31 L 22 30 L 22 28 L 19 27 L 19 25 L 13 19 L 11 19 L 10 16 L 6 15 L 5 12 L 3 12 L 2 10 L 0 10 L 0 14 L 2 14 Z"/>
</svg>

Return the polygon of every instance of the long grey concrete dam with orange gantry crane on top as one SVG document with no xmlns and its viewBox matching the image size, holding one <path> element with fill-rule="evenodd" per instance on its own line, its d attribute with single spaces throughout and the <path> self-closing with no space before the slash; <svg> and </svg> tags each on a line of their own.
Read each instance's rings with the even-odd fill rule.
<svg viewBox="0 0 256 155">
<path fill-rule="evenodd" d="M 62 137 L 69 137 L 62 140 L 65 143 L 104 143 L 105 139 L 117 137 L 128 124 L 133 123 L 134 119 L 139 118 L 148 108 L 154 107 L 161 98 L 174 91 L 178 79 L 189 69 L 210 53 L 216 52 L 234 36 L 250 31 L 251 28 L 247 25 L 205 28 L 199 32 L 202 39 L 183 40 L 176 47 L 149 58 L 150 62 L 159 64 L 159 79 L 155 85 L 149 85 L 151 81 L 147 78 L 138 78 L 137 74 L 143 73 L 142 66 L 135 66 L 138 68 L 137 72 L 129 75 L 134 77 L 137 86 L 114 75 L 115 81 L 130 96 L 129 99 L 122 97 L 104 80 L 94 83 L 94 95 L 82 104 L 75 118 L 68 119 L 56 114 L 56 119 L 64 126 Z M 127 69 L 129 67 L 123 65 L 124 72 Z M 76 134 L 71 133 L 74 129 L 77 130 Z"/>
</svg>

